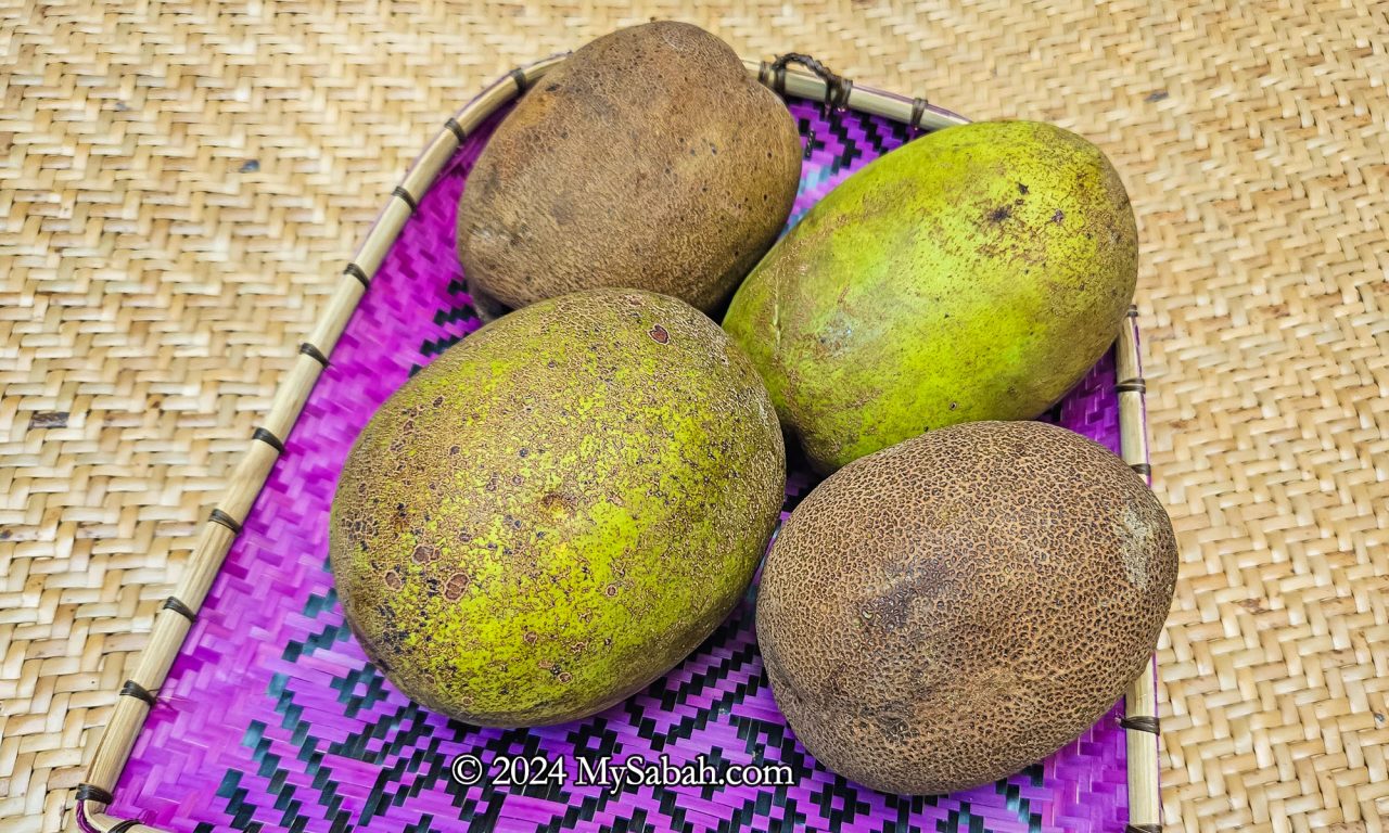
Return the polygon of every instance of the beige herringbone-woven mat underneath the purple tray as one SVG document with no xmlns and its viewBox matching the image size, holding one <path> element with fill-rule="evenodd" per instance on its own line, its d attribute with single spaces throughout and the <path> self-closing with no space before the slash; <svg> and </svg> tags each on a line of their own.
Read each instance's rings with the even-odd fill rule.
<svg viewBox="0 0 1389 833">
<path fill-rule="evenodd" d="M 1389 7 L 0 4 L 0 827 L 67 791 L 390 185 L 517 64 L 679 17 L 1101 143 L 1143 235 L 1175 829 L 1389 822 Z M 133 633 L 132 633 L 133 632 Z"/>
</svg>

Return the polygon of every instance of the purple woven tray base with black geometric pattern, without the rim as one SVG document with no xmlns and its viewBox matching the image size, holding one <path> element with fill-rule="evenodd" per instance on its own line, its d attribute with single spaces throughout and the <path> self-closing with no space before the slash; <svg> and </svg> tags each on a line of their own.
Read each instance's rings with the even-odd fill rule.
<svg viewBox="0 0 1389 833">
<path fill-rule="evenodd" d="M 849 172 L 908 139 L 885 119 L 828 121 L 793 101 L 807 147 L 797 219 Z M 492 124 L 501 118 L 493 117 Z M 1118 711 L 1043 764 L 949 797 L 899 798 L 851 784 L 785 727 L 745 601 L 643 694 L 589 721 L 476 729 L 429 714 L 372 668 L 326 569 L 339 466 L 372 411 L 418 367 L 479 326 L 454 258 L 454 210 L 490 126 L 421 199 L 351 318 L 136 741 L 111 812 L 181 832 L 310 830 L 1122 830 Z M 1106 357 L 1049 416 L 1118 450 Z M 788 508 L 813 485 L 793 472 Z M 464 787 L 460 754 L 579 758 L 660 754 L 789 765 L 782 787 L 572 783 Z"/>
</svg>

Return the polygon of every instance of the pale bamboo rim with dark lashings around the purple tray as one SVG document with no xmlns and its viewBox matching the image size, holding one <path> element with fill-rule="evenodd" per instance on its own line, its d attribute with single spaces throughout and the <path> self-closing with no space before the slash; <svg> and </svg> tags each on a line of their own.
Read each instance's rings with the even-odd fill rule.
<svg viewBox="0 0 1389 833">
<path fill-rule="evenodd" d="M 250 448 L 242 457 L 217 508 L 211 511 L 189 558 L 188 569 L 174 596 L 154 618 L 147 646 L 140 651 L 135 672 L 124 683 L 111 719 L 103 729 L 83 782 L 76 787 L 76 821 L 85 830 L 97 833 L 164 833 L 133 819 L 118 819 L 106 812 L 114 800 L 111 791 L 121 776 L 135 739 L 144 725 L 157 690 L 168 678 L 192 629 L 197 611 L 221 569 L 222 561 L 240 532 L 240 525 L 265 485 L 286 439 L 308 400 L 319 373 L 328 367 L 333 346 L 347 326 L 372 276 L 381 268 L 392 243 L 414 214 L 418 199 L 453 158 L 467 137 L 500 107 L 519 97 L 532 83 L 565 58 L 551 56 L 511 71 L 444 122 L 443 129 L 415 160 L 396 186 L 381 215 L 367 232 L 357 254 L 343 269 L 338 287 L 324 307 L 318 325 L 300 344 L 299 355 L 279 383 L 261 428 L 251 435 Z M 789 69 L 789 62 L 803 64 L 810 72 Z M 938 129 L 965 124 L 967 119 L 931 106 L 925 99 L 907 99 L 893 93 L 857 87 L 850 81 L 828 72 L 806 56 L 785 56 L 774 64 L 743 61 L 749 74 L 776 92 L 800 99 L 824 101 L 828 107 L 849 108 L 907 124 L 914 129 Z M 1138 354 L 1136 310 L 1115 342 L 1115 390 L 1120 403 L 1121 455 L 1139 473 L 1149 476 L 1147 433 L 1143 419 L 1143 379 Z M 1158 833 L 1157 771 L 1157 696 L 1154 666 L 1135 679 L 1125 691 L 1129 833 Z"/>
</svg>

